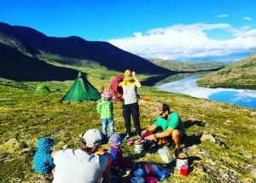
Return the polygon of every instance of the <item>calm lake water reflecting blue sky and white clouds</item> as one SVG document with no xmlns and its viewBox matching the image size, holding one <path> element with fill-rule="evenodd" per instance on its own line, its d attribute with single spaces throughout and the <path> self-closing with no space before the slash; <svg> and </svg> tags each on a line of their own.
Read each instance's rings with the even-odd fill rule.
<svg viewBox="0 0 256 183">
<path fill-rule="evenodd" d="M 166 83 L 157 88 L 162 91 L 170 91 L 179 94 L 189 94 L 197 98 L 223 101 L 238 106 L 246 106 L 256 109 L 256 90 L 248 89 L 208 89 L 198 87 L 196 80 L 200 77 L 188 77 L 181 80 Z"/>
</svg>

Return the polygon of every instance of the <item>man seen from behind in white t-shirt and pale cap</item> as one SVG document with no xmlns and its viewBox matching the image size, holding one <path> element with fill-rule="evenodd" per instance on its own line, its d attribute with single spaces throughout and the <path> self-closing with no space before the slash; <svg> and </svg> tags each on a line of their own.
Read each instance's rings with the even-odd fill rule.
<svg viewBox="0 0 256 183">
<path fill-rule="evenodd" d="M 83 134 L 77 150 L 64 149 L 52 152 L 54 158 L 54 183 L 65 182 L 110 182 L 108 163 L 113 157 L 108 152 L 96 152 L 102 144 L 103 135 L 99 129 L 90 129 Z"/>
</svg>

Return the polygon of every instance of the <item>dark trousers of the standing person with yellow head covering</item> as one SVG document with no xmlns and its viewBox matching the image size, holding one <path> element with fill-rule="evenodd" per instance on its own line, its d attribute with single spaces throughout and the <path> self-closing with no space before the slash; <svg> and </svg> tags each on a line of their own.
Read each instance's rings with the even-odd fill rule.
<svg viewBox="0 0 256 183">
<path fill-rule="evenodd" d="M 136 134 L 141 135 L 140 112 L 137 103 L 123 105 L 123 117 L 125 119 L 126 134 L 131 134 L 131 116 L 136 129 Z"/>
</svg>

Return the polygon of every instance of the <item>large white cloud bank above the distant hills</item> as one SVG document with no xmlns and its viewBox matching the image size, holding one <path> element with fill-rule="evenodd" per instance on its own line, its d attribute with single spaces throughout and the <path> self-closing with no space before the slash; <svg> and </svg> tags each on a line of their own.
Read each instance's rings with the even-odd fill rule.
<svg viewBox="0 0 256 183">
<path fill-rule="evenodd" d="M 233 38 L 210 38 L 210 31 L 225 31 Z M 229 24 L 178 24 L 135 32 L 133 37 L 108 41 L 125 51 L 145 58 L 191 60 L 193 58 L 224 57 L 256 49 L 256 30 L 249 26 L 236 29 Z"/>
</svg>

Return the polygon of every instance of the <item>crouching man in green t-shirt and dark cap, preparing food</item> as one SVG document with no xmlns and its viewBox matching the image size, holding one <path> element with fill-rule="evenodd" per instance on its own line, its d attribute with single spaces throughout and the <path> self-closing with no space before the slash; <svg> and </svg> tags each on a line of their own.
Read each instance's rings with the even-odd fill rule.
<svg viewBox="0 0 256 183">
<path fill-rule="evenodd" d="M 175 143 L 175 154 L 181 152 L 180 142 L 187 137 L 187 132 L 184 129 L 183 122 L 176 112 L 171 112 L 166 104 L 161 104 L 158 108 L 159 117 L 156 122 L 144 129 L 142 134 L 152 132 L 157 127 L 161 127 L 164 131 L 148 135 L 148 140 L 155 140 L 158 145 L 167 143 Z"/>
</svg>

